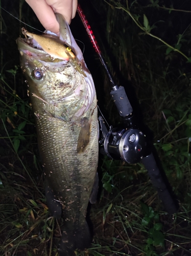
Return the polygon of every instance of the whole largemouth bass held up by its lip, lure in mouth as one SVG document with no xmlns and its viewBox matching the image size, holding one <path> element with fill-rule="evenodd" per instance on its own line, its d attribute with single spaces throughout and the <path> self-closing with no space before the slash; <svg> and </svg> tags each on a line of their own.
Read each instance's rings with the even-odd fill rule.
<svg viewBox="0 0 191 256">
<path fill-rule="evenodd" d="M 63 219 L 59 255 L 90 246 L 86 221 L 98 190 L 99 124 L 92 76 L 68 24 L 56 14 L 60 36 L 22 29 L 20 67 L 35 115 L 38 148 L 51 215 Z"/>
</svg>

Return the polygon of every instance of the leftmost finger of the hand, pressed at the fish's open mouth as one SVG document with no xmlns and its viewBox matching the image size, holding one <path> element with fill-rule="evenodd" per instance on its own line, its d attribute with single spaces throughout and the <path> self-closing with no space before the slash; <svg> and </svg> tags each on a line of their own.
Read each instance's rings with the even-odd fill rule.
<svg viewBox="0 0 191 256">
<path fill-rule="evenodd" d="M 26 0 L 26 2 L 33 9 L 37 18 L 40 20 L 40 23 L 45 29 L 56 34 L 59 33 L 59 24 L 51 6 L 47 5 L 44 0 Z"/>
</svg>

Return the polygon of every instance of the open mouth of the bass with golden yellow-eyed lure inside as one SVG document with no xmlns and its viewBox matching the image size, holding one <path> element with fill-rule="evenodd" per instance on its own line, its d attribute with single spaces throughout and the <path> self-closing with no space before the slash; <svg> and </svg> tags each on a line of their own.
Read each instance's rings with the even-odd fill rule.
<svg viewBox="0 0 191 256">
<path fill-rule="evenodd" d="M 36 35 L 22 28 L 21 32 L 26 38 L 19 37 L 17 39 L 18 49 L 21 51 L 21 54 L 26 53 L 29 57 L 31 55 L 31 57 L 34 58 L 40 57 L 41 60 L 48 62 L 68 60 L 77 71 L 85 76 L 81 67 L 78 67 L 82 66 L 81 59 L 83 59 L 83 56 L 81 51 L 78 50 L 79 47 L 76 47 L 76 41 L 71 35 L 69 26 L 61 14 L 55 13 L 55 15 L 60 26 L 59 36 L 49 30 L 45 30 L 42 35 Z M 54 48 L 55 45 L 57 45 L 56 50 Z M 69 51 L 67 51 L 67 49 L 69 49 Z M 77 52 L 74 49 L 77 49 Z"/>
</svg>

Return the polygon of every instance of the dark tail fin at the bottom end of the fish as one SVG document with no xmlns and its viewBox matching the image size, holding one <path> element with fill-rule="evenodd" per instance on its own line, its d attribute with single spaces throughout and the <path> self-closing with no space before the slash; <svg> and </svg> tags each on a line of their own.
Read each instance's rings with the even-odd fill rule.
<svg viewBox="0 0 191 256">
<path fill-rule="evenodd" d="M 62 238 L 59 242 L 59 256 L 73 256 L 75 249 L 84 250 L 88 248 L 92 241 L 87 222 L 72 231 L 64 228 L 62 231 Z"/>
</svg>

